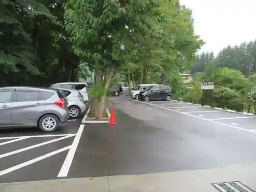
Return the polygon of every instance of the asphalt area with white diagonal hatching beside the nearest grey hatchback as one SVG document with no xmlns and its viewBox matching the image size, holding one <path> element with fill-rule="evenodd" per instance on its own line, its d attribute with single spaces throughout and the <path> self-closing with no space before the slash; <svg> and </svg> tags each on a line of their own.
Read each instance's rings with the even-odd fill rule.
<svg viewBox="0 0 256 192">
<path fill-rule="evenodd" d="M 0 182 L 67 177 L 83 126 L 70 119 L 53 133 L 38 128 L 0 130 Z"/>
</svg>

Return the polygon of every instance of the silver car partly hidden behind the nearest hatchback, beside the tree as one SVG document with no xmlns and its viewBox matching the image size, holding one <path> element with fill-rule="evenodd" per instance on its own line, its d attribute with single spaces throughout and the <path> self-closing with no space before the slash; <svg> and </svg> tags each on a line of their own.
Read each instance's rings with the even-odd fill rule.
<svg viewBox="0 0 256 192">
<path fill-rule="evenodd" d="M 68 109 L 71 118 L 77 118 L 79 115 L 86 111 L 83 96 L 78 90 L 74 89 L 57 89 L 63 96 L 67 98 Z"/>
</svg>

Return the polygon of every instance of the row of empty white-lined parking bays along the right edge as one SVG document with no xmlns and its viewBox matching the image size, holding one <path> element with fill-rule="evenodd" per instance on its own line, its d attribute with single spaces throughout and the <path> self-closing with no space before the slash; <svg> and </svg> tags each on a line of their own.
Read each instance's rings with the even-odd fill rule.
<svg viewBox="0 0 256 192">
<path fill-rule="evenodd" d="M 143 103 L 160 109 L 188 115 L 190 117 L 219 123 L 235 129 L 256 133 L 256 116 L 254 115 L 244 115 L 242 113 L 228 112 L 226 110 L 217 110 L 207 106 L 179 101 L 148 101 Z"/>
</svg>

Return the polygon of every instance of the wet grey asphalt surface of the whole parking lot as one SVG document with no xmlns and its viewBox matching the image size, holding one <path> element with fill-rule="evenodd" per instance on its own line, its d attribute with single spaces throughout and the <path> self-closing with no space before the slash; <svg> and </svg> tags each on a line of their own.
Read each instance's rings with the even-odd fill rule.
<svg viewBox="0 0 256 192">
<path fill-rule="evenodd" d="M 84 126 L 67 178 L 205 169 L 256 160 L 256 116 L 174 101 L 145 103 L 125 95 L 110 100 L 118 124 Z M 5 145 L 1 143 L 8 140 L 0 140 L 1 170 L 71 145 L 79 126 L 80 120 L 69 121 L 54 133 L 68 138 L 3 158 L 1 154 L 17 147 L 56 137 L 29 138 Z M 39 134 L 36 130 L 0 132 L 1 137 Z M 0 176 L 0 182 L 57 179 L 67 154 L 68 150 L 14 170 Z"/>
</svg>

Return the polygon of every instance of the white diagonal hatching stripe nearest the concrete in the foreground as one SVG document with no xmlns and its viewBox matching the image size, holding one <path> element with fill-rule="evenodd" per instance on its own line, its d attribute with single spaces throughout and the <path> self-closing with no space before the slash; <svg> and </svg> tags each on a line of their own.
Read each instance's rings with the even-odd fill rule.
<svg viewBox="0 0 256 192">
<path fill-rule="evenodd" d="M 37 162 L 37 161 L 46 159 L 46 158 L 48 158 L 48 157 L 51 157 L 51 156 L 56 155 L 56 154 L 58 154 L 58 153 L 61 153 L 61 152 L 63 152 L 63 151 L 66 151 L 66 150 L 68 150 L 70 147 L 71 147 L 71 145 L 70 145 L 70 146 L 63 147 L 63 148 L 60 148 L 59 150 L 56 150 L 56 151 L 54 151 L 54 152 L 51 152 L 51 153 L 42 155 L 42 156 L 37 157 L 37 158 L 35 158 L 35 159 L 31 159 L 31 160 L 26 161 L 26 162 L 24 162 L 24 163 L 20 163 L 20 164 L 18 164 L 18 165 L 12 166 L 12 167 L 10 167 L 10 168 L 4 169 L 4 170 L 2 170 L 2 171 L 0 172 L 0 176 L 5 175 L 5 174 L 8 174 L 8 173 L 10 173 L 10 172 L 13 172 L 14 170 L 17 170 L 17 169 L 19 169 L 19 168 L 28 166 L 28 165 L 30 165 L 30 164 L 32 164 L 32 163 Z"/>
</svg>

